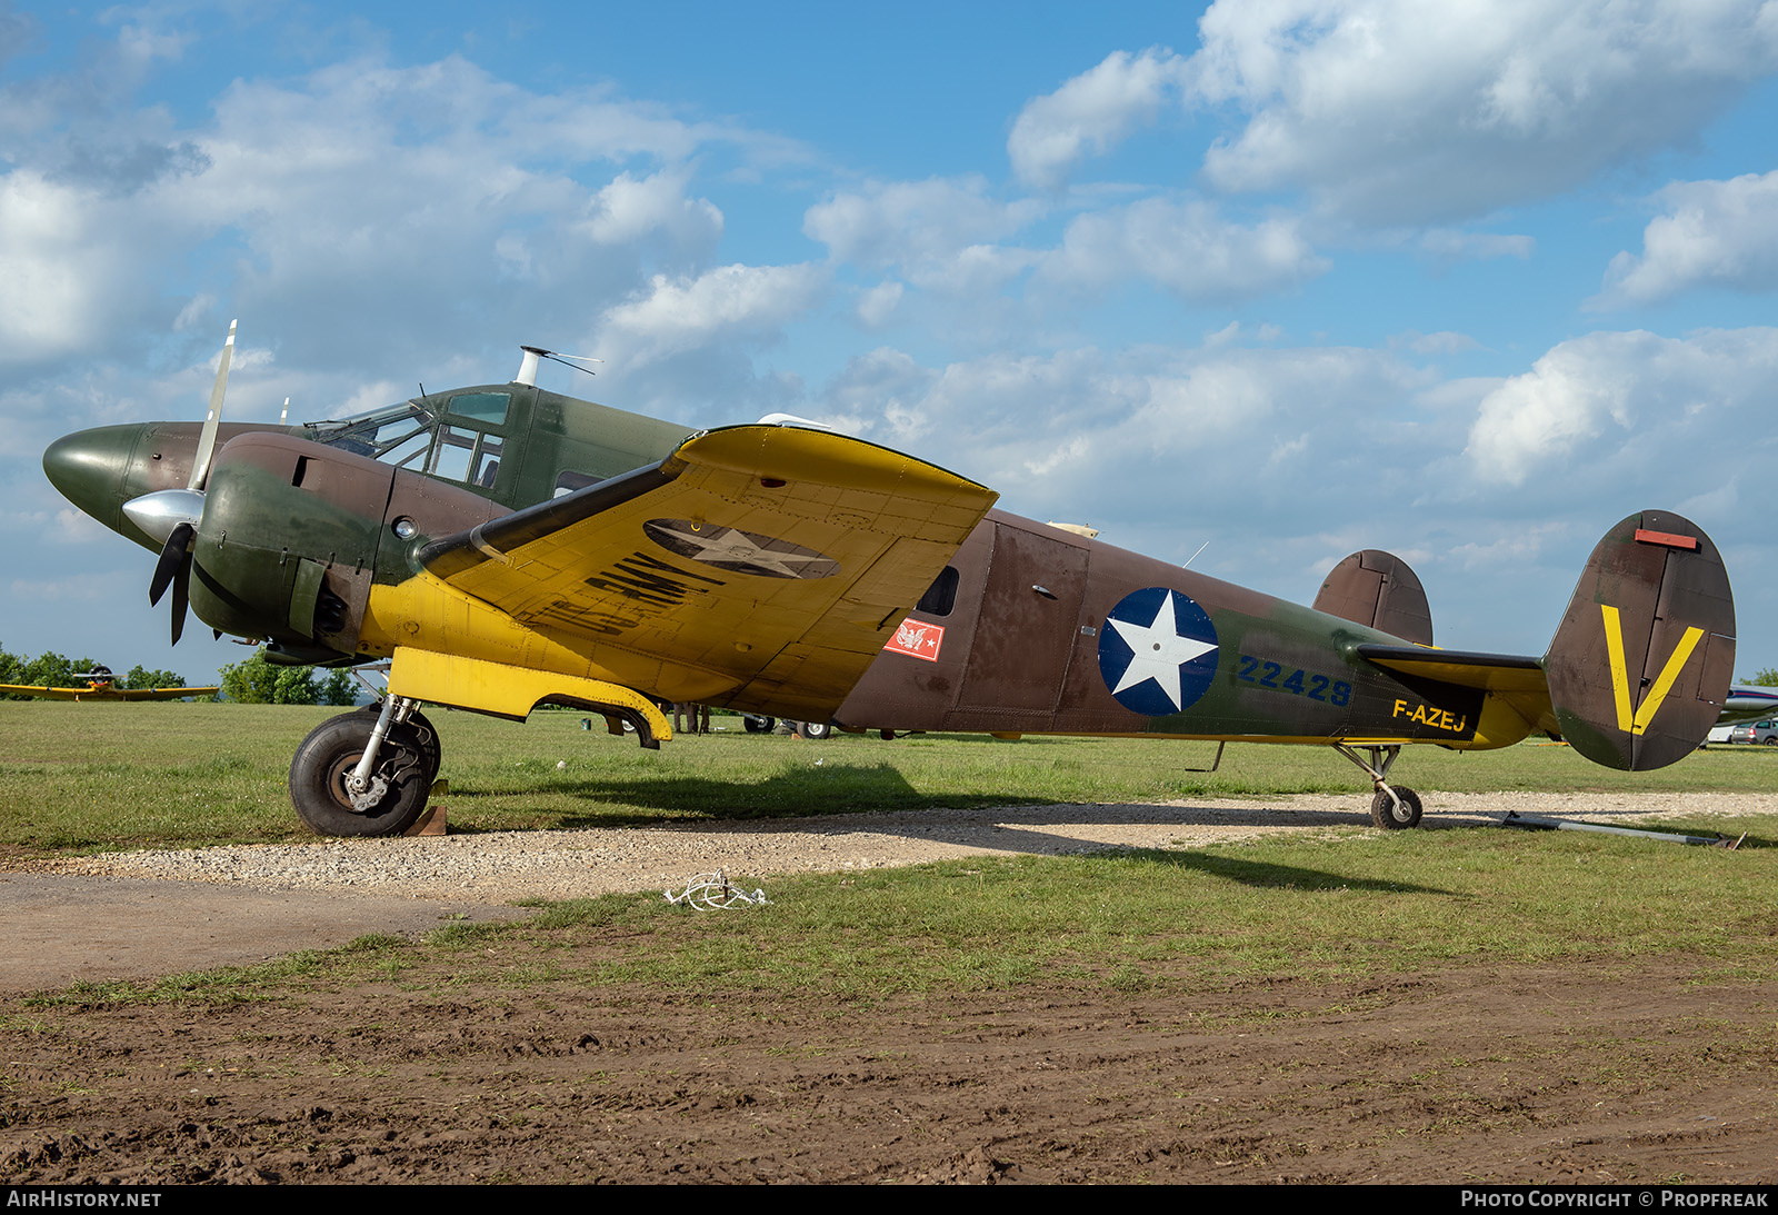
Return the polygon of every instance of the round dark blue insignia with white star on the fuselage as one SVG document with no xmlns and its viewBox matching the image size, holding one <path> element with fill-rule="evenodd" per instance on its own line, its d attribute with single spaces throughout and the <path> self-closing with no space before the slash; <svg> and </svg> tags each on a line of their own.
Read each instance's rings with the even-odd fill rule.
<svg viewBox="0 0 1778 1215">
<path fill-rule="evenodd" d="M 1149 717 L 1188 708 L 1216 674 L 1216 626 L 1189 596 L 1131 591 L 1099 630 L 1099 676 L 1118 704 Z"/>
</svg>

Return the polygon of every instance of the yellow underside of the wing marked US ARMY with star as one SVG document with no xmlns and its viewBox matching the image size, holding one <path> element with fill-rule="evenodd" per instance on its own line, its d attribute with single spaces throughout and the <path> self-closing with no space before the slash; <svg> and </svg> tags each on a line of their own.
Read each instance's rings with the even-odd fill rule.
<svg viewBox="0 0 1778 1215">
<path fill-rule="evenodd" d="M 825 719 L 997 495 L 875 443 L 747 425 L 421 551 L 669 699 Z"/>
</svg>

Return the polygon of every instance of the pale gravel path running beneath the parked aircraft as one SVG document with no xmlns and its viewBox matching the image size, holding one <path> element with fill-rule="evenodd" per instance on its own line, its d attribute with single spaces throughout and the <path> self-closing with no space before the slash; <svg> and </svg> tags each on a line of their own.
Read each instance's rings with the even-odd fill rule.
<svg viewBox="0 0 1778 1215">
<path fill-rule="evenodd" d="M 1369 827 L 1364 799 L 1298 795 L 1131 806 L 1012 806 L 829 815 L 690 827 L 512 831 L 414 840 L 325 840 L 132 852 L 32 866 L 213 882 L 496 904 L 665 889 L 693 873 L 731 877 L 917 865 L 960 856 L 1193 847 L 1287 831 Z M 1778 809 L 1767 793 L 1431 793 L 1426 827 L 1497 822 L 1508 811 L 1616 825 L 1675 815 Z M 1723 831 L 1728 831 L 1725 824 Z"/>
</svg>

